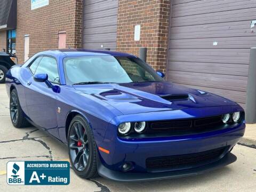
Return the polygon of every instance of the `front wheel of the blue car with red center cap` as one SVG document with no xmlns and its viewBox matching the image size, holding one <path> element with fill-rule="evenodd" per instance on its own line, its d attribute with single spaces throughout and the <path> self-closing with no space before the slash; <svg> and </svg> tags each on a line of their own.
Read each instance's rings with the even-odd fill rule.
<svg viewBox="0 0 256 192">
<path fill-rule="evenodd" d="M 68 149 L 71 166 L 79 177 L 97 177 L 97 148 L 93 132 L 81 115 L 76 115 L 69 125 Z"/>
</svg>

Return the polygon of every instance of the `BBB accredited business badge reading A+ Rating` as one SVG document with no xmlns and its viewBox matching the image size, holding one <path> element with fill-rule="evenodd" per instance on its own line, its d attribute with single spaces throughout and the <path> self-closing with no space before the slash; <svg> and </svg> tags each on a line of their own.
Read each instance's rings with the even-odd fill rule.
<svg viewBox="0 0 256 192">
<path fill-rule="evenodd" d="M 66 161 L 19 161 L 7 163 L 9 185 L 68 185 L 70 165 Z"/>
</svg>

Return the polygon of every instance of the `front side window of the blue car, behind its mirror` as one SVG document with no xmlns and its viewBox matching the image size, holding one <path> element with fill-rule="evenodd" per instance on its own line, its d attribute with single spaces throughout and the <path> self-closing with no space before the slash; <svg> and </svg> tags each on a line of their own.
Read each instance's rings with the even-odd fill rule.
<svg viewBox="0 0 256 192">
<path fill-rule="evenodd" d="M 60 83 L 57 61 L 51 57 L 43 57 L 40 61 L 36 74 L 47 74 L 52 83 Z"/>
</svg>

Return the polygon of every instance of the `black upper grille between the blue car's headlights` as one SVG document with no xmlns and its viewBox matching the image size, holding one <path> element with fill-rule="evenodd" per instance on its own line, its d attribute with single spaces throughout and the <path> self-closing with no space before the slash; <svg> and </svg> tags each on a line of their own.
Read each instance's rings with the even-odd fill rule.
<svg viewBox="0 0 256 192">
<path fill-rule="evenodd" d="M 170 121 L 156 121 L 149 122 L 148 129 L 145 131 L 145 133 L 169 132 L 172 135 L 185 135 L 213 131 L 218 129 L 218 125 L 223 125 L 221 116 L 195 119 L 179 119 Z"/>
</svg>

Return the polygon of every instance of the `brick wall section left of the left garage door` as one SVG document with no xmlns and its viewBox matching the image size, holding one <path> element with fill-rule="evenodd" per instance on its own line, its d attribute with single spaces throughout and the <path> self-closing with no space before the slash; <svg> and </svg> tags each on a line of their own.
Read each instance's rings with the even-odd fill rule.
<svg viewBox="0 0 256 192">
<path fill-rule="evenodd" d="M 82 47 L 83 0 L 50 0 L 31 10 L 31 1 L 17 2 L 17 56 L 24 60 L 24 36 L 29 35 L 29 56 L 58 49 L 58 32 L 66 30 L 66 46 Z"/>
</svg>

